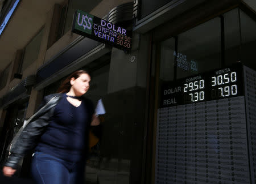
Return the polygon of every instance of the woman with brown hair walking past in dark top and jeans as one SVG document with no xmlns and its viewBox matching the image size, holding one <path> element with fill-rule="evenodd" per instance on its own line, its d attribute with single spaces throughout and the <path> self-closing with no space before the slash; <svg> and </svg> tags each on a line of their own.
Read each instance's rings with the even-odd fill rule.
<svg viewBox="0 0 256 184">
<path fill-rule="evenodd" d="M 92 102 L 82 97 L 89 83 L 88 72 L 79 70 L 64 80 L 59 93 L 44 97 L 41 108 L 11 144 L 5 176 L 12 176 L 20 159 L 35 149 L 31 173 L 36 183 L 84 183 L 89 127 L 100 124 Z"/>
</svg>

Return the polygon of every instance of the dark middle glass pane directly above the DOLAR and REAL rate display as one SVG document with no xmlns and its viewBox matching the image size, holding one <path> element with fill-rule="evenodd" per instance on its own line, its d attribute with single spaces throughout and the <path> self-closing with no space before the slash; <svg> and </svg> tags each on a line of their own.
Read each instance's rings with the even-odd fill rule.
<svg viewBox="0 0 256 184">
<path fill-rule="evenodd" d="M 220 18 L 178 35 L 175 56 L 177 79 L 220 67 Z"/>
</svg>

